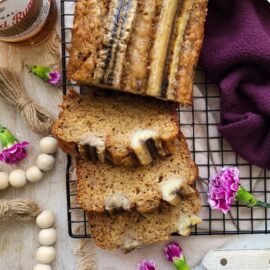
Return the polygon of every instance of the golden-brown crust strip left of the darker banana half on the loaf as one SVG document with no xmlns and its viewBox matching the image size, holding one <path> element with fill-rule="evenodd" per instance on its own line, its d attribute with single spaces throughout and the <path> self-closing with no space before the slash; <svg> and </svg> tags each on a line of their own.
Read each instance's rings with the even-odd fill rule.
<svg viewBox="0 0 270 270">
<path fill-rule="evenodd" d="M 106 0 L 77 1 L 67 68 L 69 79 L 92 80 L 97 53 L 102 47 L 106 13 Z"/>
</svg>

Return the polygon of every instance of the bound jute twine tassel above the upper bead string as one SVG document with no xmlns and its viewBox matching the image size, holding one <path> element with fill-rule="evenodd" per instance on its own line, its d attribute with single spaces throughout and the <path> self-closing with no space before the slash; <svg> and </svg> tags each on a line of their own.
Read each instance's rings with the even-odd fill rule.
<svg viewBox="0 0 270 270">
<path fill-rule="evenodd" d="M 51 131 L 49 113 L 26 95 L 17 73 L 0 68 L 0 97 L 21 112 L 26 125 L 35 133 L 47 135 Z"/>
</svg>

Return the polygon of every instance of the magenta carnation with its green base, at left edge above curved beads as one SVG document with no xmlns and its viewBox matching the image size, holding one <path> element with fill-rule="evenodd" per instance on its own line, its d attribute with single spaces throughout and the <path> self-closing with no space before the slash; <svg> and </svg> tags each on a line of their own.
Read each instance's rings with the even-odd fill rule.
<svg viewBox="0 0 270 270">
<path fill-rule="evenodd" d="M 13 134 L 7 128 L 1 126 L 0 143 L 2 145 L 0 161 L 6 164 L 17 164 L 27 156 L 26 148 L 29 143 L 26 141 L 18 143 Z"/>
</svg>

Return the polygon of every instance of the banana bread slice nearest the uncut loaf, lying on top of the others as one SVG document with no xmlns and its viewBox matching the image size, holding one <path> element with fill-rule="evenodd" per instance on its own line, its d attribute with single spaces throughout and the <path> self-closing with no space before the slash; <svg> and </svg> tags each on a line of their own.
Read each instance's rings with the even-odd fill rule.
<svg viewBox="0 0 270 270">
<path fill-rule="evenodd" d="M 70 90 L 52 134 L 71 155 L 115 165 L 148 165 L 172 154 L 179 133 L 176 106 L 123 93 Z"/>
</svg>

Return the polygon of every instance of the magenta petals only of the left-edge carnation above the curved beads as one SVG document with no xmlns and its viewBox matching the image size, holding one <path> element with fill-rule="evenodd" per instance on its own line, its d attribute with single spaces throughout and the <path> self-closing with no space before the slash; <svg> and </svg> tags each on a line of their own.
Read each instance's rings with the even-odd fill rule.
<svg viewBox="0 0 270 270">
<path fill-rule="evenodd" d="M 0 152 L 0 160 L 7 164 L 17 164 L 27 156 L 25 149 L 28 145 L 28 142 L 13 144 Z"/>
</svg>

